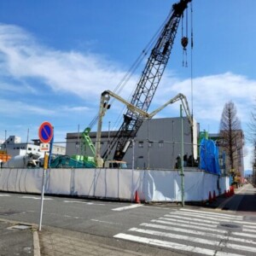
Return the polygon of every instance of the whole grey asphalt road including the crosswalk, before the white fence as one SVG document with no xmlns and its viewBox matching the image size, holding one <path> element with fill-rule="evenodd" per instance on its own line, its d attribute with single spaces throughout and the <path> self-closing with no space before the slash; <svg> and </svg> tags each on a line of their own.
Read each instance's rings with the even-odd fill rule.
<svg viewBox="0 0 256 256">
<path fill-rule="evenodd" d="M 148 255 L 255 255 L 255 195 L 252 186 L 244 187 L 229 201 L 229 211 L 46 196 L 43 229 L 94 236 L 135 251 L 143 246 Z M 39 212 L 38 195 L 0 193 L 0 218 L 38 224 Z"/>
</svg>

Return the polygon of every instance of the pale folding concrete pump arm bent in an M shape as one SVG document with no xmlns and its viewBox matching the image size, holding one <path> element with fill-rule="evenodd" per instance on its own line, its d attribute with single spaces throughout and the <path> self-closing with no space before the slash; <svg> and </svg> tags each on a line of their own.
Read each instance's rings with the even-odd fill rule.
<svg viewBox="0 0 256 256">
<path fill-rule="evenodd" d="M 189 111 L 189 104 L 187 101 L 186 96 L 184 96 L 182 93 L 177 94 L 177 96 L 174 96 L 172 99 L 170 99 L 168 102 L 166 102 L 164 105 L 162 105 L 160 108 L 155 109 L 152 113 L 147 113 L 141 108 L 137 108 L 136 106 L 132 105 L 131 102 L 125 101 L 122 97 L 118 96 L 111 90 L 105 90 L 102 92 L 101 96 L 101 102 L 100 102 L 100 110 L 99 110 L 99 119 L 98 119 L 98 127 L 97 127 L 97 133 L 96 133 L 96 147 L 95 147 L 95 159 L 96 159 L 96 166 L 102 167 L 104 165 L 104 160 L 101 157 L 101 138 L 102 138 L 102 119 L 106 113 L 106 111 L 110 108 L 110 104 L 108 104 L 110 100 L 110 96 L 118 100 L 119 102 L 122 102 L 125 104 L 125 106 L 131 111 L 134 116 L 140 117 L 143 119 L 152 119 L 155 114 L 159 113 L 162 109 L 166 108 L 168 105 L 181 101 L 183 105 L 183 109 L 187 115 L 187 118 L 189 119 L 189 125 L 193 129 L 194 121 L 191 116 L 191 113 Z M 128 145 L 128 144 L 126 144 Z M 127 148 L 125 148 L 127 149 Z M 120 160 L 116 160 L 120 161 Z M 105 165 L 106 166 L 106 165 Z"/>
</svg>

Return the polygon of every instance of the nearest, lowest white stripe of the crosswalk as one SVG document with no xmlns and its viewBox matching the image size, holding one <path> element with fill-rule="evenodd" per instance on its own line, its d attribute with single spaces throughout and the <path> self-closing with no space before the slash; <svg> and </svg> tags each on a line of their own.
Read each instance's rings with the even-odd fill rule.
<svg viewBox="0 0 256 256">
<path fill-rule="evenodd" d="M 193 252 L 193 253 L 201 253 L 204 255 L 211 255 L 211 256 L 216 255 L 215 254 L 216 252 L 213 250 L 210 250 L 210 249 L 187 246 L 187 245 L 180 244 L 177 242 L 172 242 L 172 241 L 162 241 L 162 240 L 158 240 L 158 239 L 151 239 L 151 238 L 146 238 L 146 237 L 127 235 L 124 233 L 119 233 L 113 237 L 124 239 L 124 240 L 129 240 L 129 241 L 137 241 L 137 242 L 141 242 L 141 243 L 146 243 L 148 245 L 154 245 L 157 247 L 172 248 L 172 249 L 176 249 L 176 250 Z"/>
</svg>

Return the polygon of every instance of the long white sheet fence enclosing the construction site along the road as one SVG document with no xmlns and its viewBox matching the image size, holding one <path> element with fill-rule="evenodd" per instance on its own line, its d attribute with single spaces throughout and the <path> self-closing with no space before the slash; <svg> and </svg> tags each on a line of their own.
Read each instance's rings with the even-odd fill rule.
<svg viewBox="0 0 256 256">
<path fill-rule="evenodd" d="M 205 201 L 229 189 L 229 177 L 203 171 L 184 172 L 185 201 Z M 0 169 L 0 191 L 41 193 L 43 169 Z M 49 169 L 45 193 L 83 195 L 133 201 L 181 201 L 181 177 L 177 171 L 119 169 Z"/>
</svg>

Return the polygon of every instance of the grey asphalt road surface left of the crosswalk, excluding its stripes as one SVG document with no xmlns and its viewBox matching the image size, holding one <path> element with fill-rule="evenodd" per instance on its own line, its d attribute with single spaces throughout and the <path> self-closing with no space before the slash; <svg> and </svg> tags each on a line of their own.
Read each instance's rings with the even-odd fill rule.
<svg viewBox="0 0 256 256">
<path fill-rule="evenodd" d="M 0 218 L 39 224 L 40 195 L 2 193 L 0 201 Z M 168 212 L 170 207 L 45 196 L 43 226 L 113 236 Z"/>
</svg>

